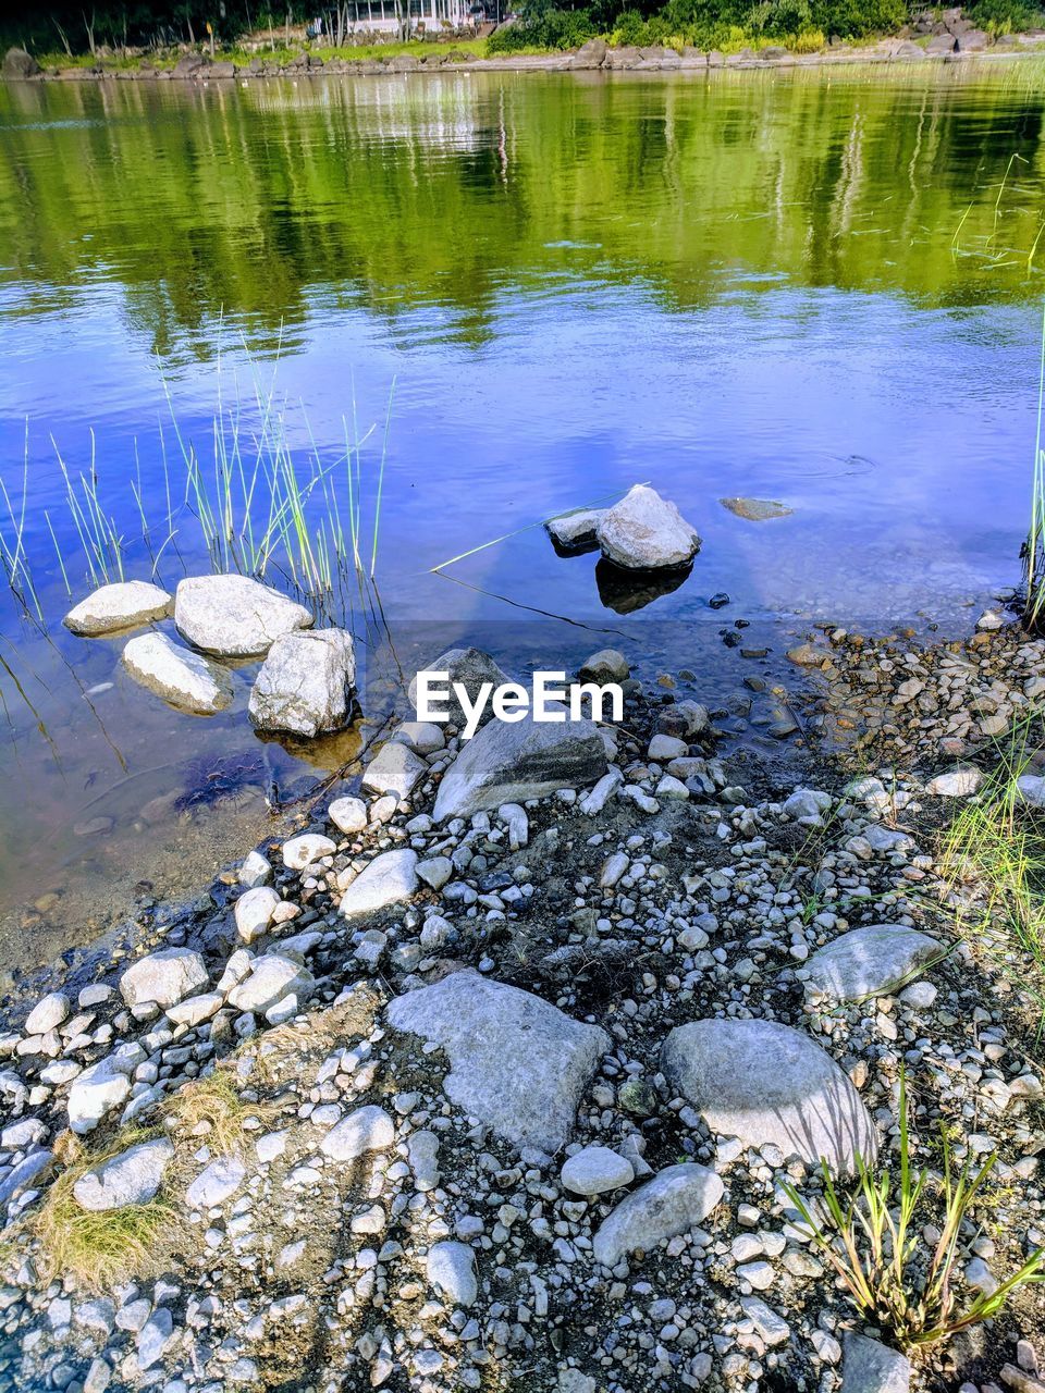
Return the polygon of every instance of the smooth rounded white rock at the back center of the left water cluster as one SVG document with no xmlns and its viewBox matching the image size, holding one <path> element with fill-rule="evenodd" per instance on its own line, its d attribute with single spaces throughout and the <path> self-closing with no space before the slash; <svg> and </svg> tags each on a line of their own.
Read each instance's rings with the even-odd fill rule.
<svg viewBox="0 0 1045 1393">
<path fill-rule="evenodd" d="M 283 634 L 311 628 L 312 616 L 248 575 L 189 575 L 178 581 L 174 624 L 205 653 L 261 657 Z"/>
</svg>

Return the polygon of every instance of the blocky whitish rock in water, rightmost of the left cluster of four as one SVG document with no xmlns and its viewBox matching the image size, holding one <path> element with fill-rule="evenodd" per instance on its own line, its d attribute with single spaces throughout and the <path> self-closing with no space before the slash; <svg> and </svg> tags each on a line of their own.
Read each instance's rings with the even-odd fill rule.
<svg viewBox="0 0 1045 1393">
<path fill-rule="evenodd" d="M 247 710 L 259 730 L 311 740 L 350 723 L 354 691 L 351 634 L 343 628 L 284 634 L 262 663 Z"/>
</svg>

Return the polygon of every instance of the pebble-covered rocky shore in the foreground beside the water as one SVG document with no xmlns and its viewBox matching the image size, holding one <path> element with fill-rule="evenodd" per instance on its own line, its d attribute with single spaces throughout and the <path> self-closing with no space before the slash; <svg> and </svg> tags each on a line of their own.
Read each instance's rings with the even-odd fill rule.
<svg viewBox="0 0 1045 1393">
<path fill-rule="evenodd" d="M 1045 644 L 790 657 L 801 777 L 594 655 L 624 720 L 534 727 L 529 784 L 490 727 L 463 779 L 451 729 L 404 723 L 125 958 L 13 1007 L 0 1386 L 1045 1387 L 1034 1289 L 910 1364 L 784 1188 L 895 1159 L 903 1067 L 921 1160 L 940 1121 L 999 1156 L 963 1294 L 1045 1243 L 1035 1006 L 957 935 L 936 836 Z M 137 1261 L 104 1248 L 128 1217 Z"/>
</svg>

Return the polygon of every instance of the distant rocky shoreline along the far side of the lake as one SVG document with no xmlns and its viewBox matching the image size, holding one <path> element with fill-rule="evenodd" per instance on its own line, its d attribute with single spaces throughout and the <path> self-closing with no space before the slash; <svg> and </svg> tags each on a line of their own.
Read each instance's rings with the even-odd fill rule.
<svg viewBox="0 0 1045 1393">
<path fill-rule="evenodd" d="M 940 26 L 942 28 L 942 26 Z M 440 52 L 440 49 L 443 52 Z M 895 36 L 872 43 L 832 43 L 815 53 L 794 53 L 782 46 L 737 53 L 684 47 L 610 47 L 602 39 L 592 39 L 577 50 L 541 54 L 499 54 L 475 57 L 454 50 L 453 45 L 432 45 L 432 53 L 422 57 L 394 54 L 389 59 L 327 59 L 300 53 L 286 63 L 261 56 L 249 63 L 210 60 L 202 53 L 184 54 L 173 67 L 153 67 L 142 60 L 139 67 L 106 65 L 54 67 L 40 70 L 29 54 L 11 50 L 0 75 L 11 82 L 233 82 L 262 78 L 325 78 L 325 77 L 383 77 L 389 74 L 431 72 L 706 72 L 718 68 L 818 68 L 847 64 L 895 63 L 967 63 L 970 60 L 998 61 L 1045 52 L 1045 33 L 1002 35 L 991 39 L 984 31 L 966 24 L 952 32 L 942 29 L 925 43 L 910 36 Z"/>
</svg>

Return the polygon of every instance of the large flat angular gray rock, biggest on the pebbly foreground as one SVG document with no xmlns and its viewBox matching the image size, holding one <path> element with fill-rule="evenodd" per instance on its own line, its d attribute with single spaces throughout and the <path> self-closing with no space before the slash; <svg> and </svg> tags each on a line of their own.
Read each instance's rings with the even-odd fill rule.
<svg viewBox="0 0 1045 1393">
<path fill-rule="evenodd" d="M 546 1152 L 570 1139 L 581 1094 L 610 1048 L 598 1027 L 471 970 L 396 997 L 386 1017 L 442 1046 L 451 1102 L 517 1146 Z"/>
</svg>

